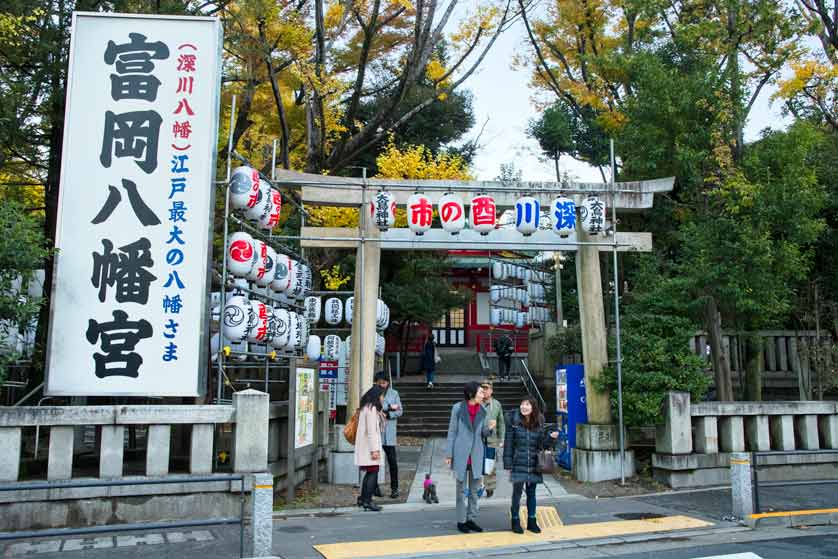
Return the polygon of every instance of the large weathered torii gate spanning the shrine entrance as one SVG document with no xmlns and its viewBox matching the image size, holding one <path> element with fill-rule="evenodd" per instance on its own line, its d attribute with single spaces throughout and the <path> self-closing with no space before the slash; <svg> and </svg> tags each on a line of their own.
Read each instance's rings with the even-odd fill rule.
<svg viewBox="0 0 838 559">
<path fill-rule="evenodd" d="M 652 208 L 656 193 L 672 190 L 674 178 L 649 181 L 605 183 L 524 182 L 514 186 L 497 181 L 448 181 L 448 180 L 396 180 L 330 177 L 293 171 L 278 170 L 277 182 L 298 187 L 303 204 L 314 206 L 366 208 L 378 190 L 390 191 L 399 206 L 405 206 L 414 192 L 427 195 L 452 191 L 468 201 L 469 195 L 490 193 L 499 211 L 512 208 L 525 193 L 542 201 L 559 194 L 571 197 L 577 208 L 590 194 L 597 194 L 606 203 L 607 218 L 640 212 Z M 302 227 L 300 246 L 303 248 L 346 248 L 357 252 L 355 269 L 355 307 L 352 321 L 352 347 L 349 387 L 350 409 L 358 405 L 361 389 L 372 385 L 375 368 L 376 302 L 378 300 L 379 266 L 381 250 L 539 250 L 577 251 L 576 278 L 579 291 L 579 315 L 582 332 L 582 353 L 585 362 L 585 385 L 588 407 L 588 425 L 577 434 L 577 446 L 583 451 L 581 458 L 574 455 L 584 469 L 577 477 L 584 481 L 599 481 L 620 477 L 619 462 L 614 474 L 614 441 L 618 430 L 613 425 L 608 393 L 594 390 L 594 379 L 600 376 L 608 362 L 607 330 L 600 272 L 600 251 L 649 252 L 652 250 L 651 233 L 621 233 L 590 236 L 581 230 L 562 239 L 550 230 L 539 230 L 530 237 L 523 237 L 515 230 L 496 229 L 483 236 L 471 229 L 464 229 L 452 236 L 442 229 L 431 229 L 417 237 L 406 228 L 379 231 L 372 223 L 369 212 L 359 211 L 357 228 Z M 611 222 L 608 222 L 611 229 Z M 361 281 L 358 281 L 362 278 Z M 581 437 L 579 435 L 582 435 Z M 579 446 L 579 445 L 582 446 Z M 609 448 L 610 447 L 610 448 Z M 584 455 L 586 451 L 593 453 Z M 602 452 L 610 452 L 608 456 Z M 617 453 L 619 454 L 619 453 Z M 585 466 L 585 463 L 588 463 Z M 626 472 L 633 471 L 633 459 Z M 588 472 L 588 473 L 586 473 Z"/>
</svg>

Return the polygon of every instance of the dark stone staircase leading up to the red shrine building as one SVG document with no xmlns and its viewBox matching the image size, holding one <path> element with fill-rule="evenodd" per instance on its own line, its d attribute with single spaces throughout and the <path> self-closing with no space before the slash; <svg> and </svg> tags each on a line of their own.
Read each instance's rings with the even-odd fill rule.
<svg viewBox="0 0 838 559">
<path fill-rule="evenodd" d="M 444 359 L 444 357 L 443 357 Z M 405 414 L 399 419 L 400 436 L 445 437 L 451 406 L 463 399 L 462 382 L 446 382 L 429 389 L 424 382 L 399 382 L 396 388 L 402 399 Z M 527 395 L 520 381 L 496 382 L 494 397 L 503 404 L 504 411 L 514 409 Z"/>
</svg>

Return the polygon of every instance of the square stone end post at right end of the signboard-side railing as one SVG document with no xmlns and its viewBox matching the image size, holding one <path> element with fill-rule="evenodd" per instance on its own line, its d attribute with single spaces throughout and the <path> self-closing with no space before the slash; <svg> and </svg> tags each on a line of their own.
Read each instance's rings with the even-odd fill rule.
<svg viewBox="0 0 838 559">
<path fill-rule="evenodd" d="M 236 408 L 233 471 L 264 472 L 268 469 L 268 395 L 253 389 L 236 392 L 233 407 Z"/>
</svg>

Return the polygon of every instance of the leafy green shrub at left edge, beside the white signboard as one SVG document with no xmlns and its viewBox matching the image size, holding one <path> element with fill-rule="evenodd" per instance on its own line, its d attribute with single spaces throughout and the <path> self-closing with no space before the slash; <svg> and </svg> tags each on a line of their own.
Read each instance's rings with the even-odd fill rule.
<svg viewBox="0 0 838 559">
<path fill-rule="evenodd" d="M 30 328 L 38 315 L 41 301 L 27 297 L 26 286 L 48 254 L 40 224 L 17 203 L 0 205 L 0 382 L 20 357 L 9 337 Z"/>
</svg>

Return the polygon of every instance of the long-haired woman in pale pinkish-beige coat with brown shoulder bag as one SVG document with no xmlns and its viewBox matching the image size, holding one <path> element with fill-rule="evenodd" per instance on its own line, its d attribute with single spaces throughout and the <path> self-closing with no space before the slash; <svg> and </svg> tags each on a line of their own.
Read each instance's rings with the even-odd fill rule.
<svg viewBox="0 0 838 559">
<path fill-rule="evenodd" d="M 355 465 L 364 471 L 361 482 L 361 496 L 358 504 L 364 510 L 380 511 L 372 502 L 378 487 L 378 468 L 381 467 L 381 431 L 384 419 L 381 414 L 384 391 L 378 386 L 370 388 L 361 398 L 361 413 L 358 414 L 358 431 L 355 435 Z"/>
</svg>

